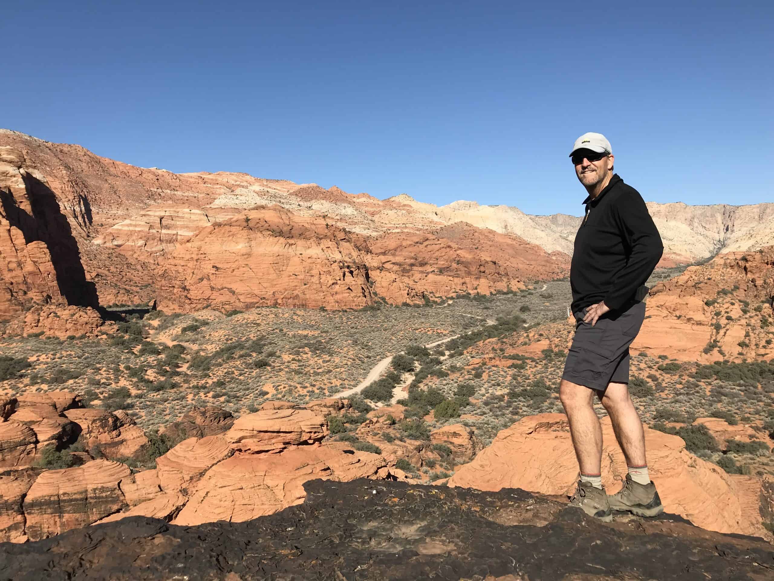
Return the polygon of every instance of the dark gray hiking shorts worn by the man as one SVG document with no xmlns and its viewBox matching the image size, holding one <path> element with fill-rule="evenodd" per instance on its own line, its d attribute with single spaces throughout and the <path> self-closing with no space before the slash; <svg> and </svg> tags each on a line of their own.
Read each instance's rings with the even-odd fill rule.
<svg viewBox="0 0 774 581">
<path fill-rule="evenodd" d="M 585 323 L 585 311 L 575 316 L 575 336 L 562 379 L 592 390 L 606 390 L 608 383 L 628 383 L 628 347 L 645 320 L 645 303 L 632 304 L 623 311 L 608 311 L 593 327 Z"/>
</svg>

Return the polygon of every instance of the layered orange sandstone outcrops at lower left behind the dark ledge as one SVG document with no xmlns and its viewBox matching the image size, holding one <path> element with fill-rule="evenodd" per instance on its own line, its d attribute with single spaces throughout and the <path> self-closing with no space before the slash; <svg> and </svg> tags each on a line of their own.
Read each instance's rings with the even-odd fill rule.
<svg viewBox="0 0 774 581">
<path fill-rule="evenodd" d="M 15 414 L 24 409 L 56 414 L 54 401 L 68 405 L 63 395 L 36 397 L 0 424 L 9 432 L 0 441 L 5 443 L 0 447 L 5 467 L 29 465 L 36 450 L 36 433 L 15 422 Z M 210 427 L 233 421 L 219 412 L 198 409 L 180 425 L 193 424 L 197 418 L 214 420 Z M 109 435 L 115 439 L 113 452 L 142 448 L 137 438 L 130 437 L 136 426 L 126 423 L 125 414 L 89 409 L 63 413 L 80 426 L 87 442 L 102 442 Z M 183 440 L 156 459 L 156 469 L 132 473 L 124 464 L 94 460 L 44 470 L 38 476 L 15 472 L 0 480 L 5 486 L 0 489 L 0 541 L 46 538 L 124 516 L 160 517 L 180 524 L 245 521 L 303 502 L 303 483 L 314 478 L 411 481 L 401 470 L 389 468 L 382 456 L 354 450 L 346 442 L 320 444 L 327 434 L 323 417 L 279 405 L 238 418 L 226 432 Z M 101 447 L 111 449 L 109 442 Z"/>
</svg>

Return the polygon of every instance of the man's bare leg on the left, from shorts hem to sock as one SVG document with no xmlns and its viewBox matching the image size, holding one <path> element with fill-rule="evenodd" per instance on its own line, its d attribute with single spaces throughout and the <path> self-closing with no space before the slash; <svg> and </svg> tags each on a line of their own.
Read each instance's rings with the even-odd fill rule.
<svg viewBox="0 0 774 581">
<path fill-rule="evenodd" d="M 594 413 L 594 390 L 562 380 L 559 397 L 570 421 L 575 456 L 580 472 L 599 474 L 602 470 L 602 428 Z"/>
</svg>

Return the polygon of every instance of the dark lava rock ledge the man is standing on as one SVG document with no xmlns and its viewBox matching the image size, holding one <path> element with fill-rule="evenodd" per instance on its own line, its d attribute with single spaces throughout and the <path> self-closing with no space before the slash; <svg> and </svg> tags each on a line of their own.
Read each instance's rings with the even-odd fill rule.
<svg viewBox="0 0 774 581">
<path fill-rule="evenodd" d="M 384 480 L 311 480 L 244 523 L 145 517 L 0 545 L 0 579 L 774 579 L 774 550 L 681 517 L 604 524 L 558 500 Z"/>
</svg>

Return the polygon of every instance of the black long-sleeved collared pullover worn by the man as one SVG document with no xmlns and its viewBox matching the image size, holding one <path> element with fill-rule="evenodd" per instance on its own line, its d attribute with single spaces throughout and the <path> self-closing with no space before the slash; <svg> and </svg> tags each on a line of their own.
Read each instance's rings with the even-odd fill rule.
<svg viewBox="0 0 774 581">
<path fill-rule="evenodd" d="M 664 246 L 642 196 L 614 174 L 596 198 L 584 201 L 586 215 L 575 235 L 570 265 L 573 312 L 604 301 L 625 310 L 647 293 L 645 281 Z"/>
</svg>

